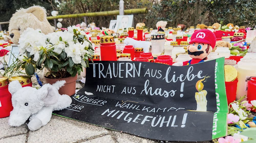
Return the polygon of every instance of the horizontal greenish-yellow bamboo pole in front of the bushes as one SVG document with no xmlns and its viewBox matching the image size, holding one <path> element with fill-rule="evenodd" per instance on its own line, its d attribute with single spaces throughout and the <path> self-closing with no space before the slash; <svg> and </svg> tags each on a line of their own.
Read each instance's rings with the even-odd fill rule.
<svg viewBox="0 0 256 143">
<path fill-rule="evenodd" d="M 124 14 L 146 14 L 147 8 L 138 8 L 138 9 L 126 9 L 124 10 Z M 102 11 L 102 12 L 95 12 L 95 13 L 81 13 L 81 14 L 68 14 L 68 15 L 58 15 L 58 16 L 48 16 L 47 19 L 58 19 L 58 18 L 77 18 L 77 17 L 95 17 L 95 16 L 112 16 L 112 15 L 119 15 L 119 10 L 113 11 Z"/>
</svg>

